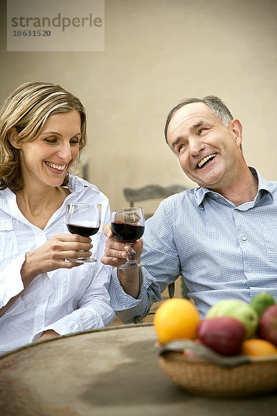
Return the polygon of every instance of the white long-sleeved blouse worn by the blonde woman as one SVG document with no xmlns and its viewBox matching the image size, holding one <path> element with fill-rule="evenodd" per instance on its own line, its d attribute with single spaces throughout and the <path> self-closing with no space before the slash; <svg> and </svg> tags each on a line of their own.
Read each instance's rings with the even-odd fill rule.
<svg viewBox="0 0 277 416">
<path fill-rule="evenodd" d="M 102 226 L 109 223 L 109 201 L 97 187 L 74 175 L 70 175 L 68 187 L 71 194 L 44 229 L 21 214 L 15 193 L 10 189 L 0 191 L 0 308 L 24 290 L 20 271 L 26 253 L 55 234 L 69 233 L 66 202 L 102 204 L 99 232 L 91 236 L 91 255 L 97 261 L 35 277 L 0 318 L 0 354 L 37 340 L 46 329 L 64 335 L 105 327 L 115 318 L 108 295 L 111 267 L 100 262 L 106 238 Z"/>
</svg>

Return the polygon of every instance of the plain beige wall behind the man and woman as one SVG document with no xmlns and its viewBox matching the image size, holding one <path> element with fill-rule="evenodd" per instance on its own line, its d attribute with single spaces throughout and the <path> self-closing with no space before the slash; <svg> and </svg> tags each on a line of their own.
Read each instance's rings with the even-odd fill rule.
<svg viewBox="0 0 277 416">
<path fill-rule="evenodd" d="M 277 180 L 277 1 L 106 0 L 105 52 L 94 53 L 6 52 L 3 3 L 0 101 L 29 80 L 78 95 L 89 179 L 111 208 L 127 205 L 124 187 L 194 186 L 163 139 L 168 111 L 188 96 L 220 96 L 242 121 L 247 162 Z"/>
</svg>

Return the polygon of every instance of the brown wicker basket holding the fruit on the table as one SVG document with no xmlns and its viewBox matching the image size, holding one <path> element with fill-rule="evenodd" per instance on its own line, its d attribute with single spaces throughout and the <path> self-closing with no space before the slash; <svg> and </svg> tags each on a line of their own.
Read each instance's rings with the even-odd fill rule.
<svg viewBox="0 0 277 416">
<path fill-rule="evenodd" d="M 190 340 L 159 351 L 159 364 L 175 384 L 206 397 L 248 397 L 277 390 L 277 355 L 224 357 Z"/>
</svg>

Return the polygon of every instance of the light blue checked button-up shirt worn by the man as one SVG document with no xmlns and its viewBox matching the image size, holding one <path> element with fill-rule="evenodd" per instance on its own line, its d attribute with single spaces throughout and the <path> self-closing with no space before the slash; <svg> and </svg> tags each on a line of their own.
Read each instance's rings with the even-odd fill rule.
<svg viewBox="0 0 277 416">
<path fill-rule="evenodd" d="M 111 307 L 122 322 L 145 316 L 180 274 L 202 318 L 224 299 L 250 302 L 266 291 L 277 301 L 277 182 L 250 169 L 258 193 L 239 207 L 202 187 L 161 202 L 145 225 L 138 299 L 123 291 L 113 272 Z"/>
</svg>

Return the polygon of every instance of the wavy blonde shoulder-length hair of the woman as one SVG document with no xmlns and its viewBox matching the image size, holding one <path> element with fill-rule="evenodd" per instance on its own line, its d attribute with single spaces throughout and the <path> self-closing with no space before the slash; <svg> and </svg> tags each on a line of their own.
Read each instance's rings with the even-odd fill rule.
<svg viewBox="0 0 277 416">
<path fill-rule="evenodd" d="M 19 142 L 32 141 L 49 116 L 71 110 L 80 114 L 79 150 L 82 150 L 87 144 L 87 115 L 79 98 L 60 85 L 50 83 L 25 83 L 8 96 L 0 110 L 0 189 L 23 189 L 19 150 L 10 144 L 10 129 L 17 129 Z M 67 183 L 68 175 L 62 186 Z"/>
</svg>

